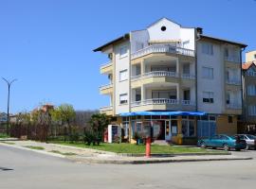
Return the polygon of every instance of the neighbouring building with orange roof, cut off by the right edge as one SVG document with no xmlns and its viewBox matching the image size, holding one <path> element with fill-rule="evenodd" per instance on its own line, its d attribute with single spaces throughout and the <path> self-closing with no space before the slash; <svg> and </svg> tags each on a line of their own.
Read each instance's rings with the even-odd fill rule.
<svg viewBox="0 0 256 189">
<path fill-rule="evenodd" d="M 246 53 L 243 63 L 243 119 L 241 133 L 256 133 L 256 51 Z"/>
</svg>

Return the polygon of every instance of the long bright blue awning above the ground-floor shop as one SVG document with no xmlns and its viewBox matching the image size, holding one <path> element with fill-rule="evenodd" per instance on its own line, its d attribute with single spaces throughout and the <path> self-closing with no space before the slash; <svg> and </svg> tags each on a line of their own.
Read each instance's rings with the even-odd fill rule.
<svg viewBox="0 0 256 189">
<path fill-rule="evenodd" d="M 174 112 L 122 112 L 119 113 L 119 116 L 126 117 L 126 116 L 136 116 L 136 115 L 193 115 L 193 116 L 202 116 L 205 115 L 206 112 L 181 112 L 181 111 L 174 111 Z"/>
</svg>

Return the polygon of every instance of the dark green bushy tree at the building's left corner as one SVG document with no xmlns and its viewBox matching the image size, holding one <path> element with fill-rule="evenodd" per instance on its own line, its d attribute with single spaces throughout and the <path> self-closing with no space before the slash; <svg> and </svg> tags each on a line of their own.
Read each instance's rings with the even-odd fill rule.
<svg viewBox="0 0 256 189">
<path fill-rule="evenodd" d="M 90 119 L 90 131 L 94 135 L 93 144 L 99 145 L 103 142 L 103 134 L 109 123 L 111 122 L 111 116 L 106 114 L 96 113 L 93 114 Z"/>
</svg>

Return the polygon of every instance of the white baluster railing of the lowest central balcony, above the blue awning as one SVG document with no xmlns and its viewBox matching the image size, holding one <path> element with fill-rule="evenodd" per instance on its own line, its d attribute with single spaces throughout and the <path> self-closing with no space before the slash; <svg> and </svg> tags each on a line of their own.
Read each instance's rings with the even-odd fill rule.
<svg viewBox="0 0 256 189">
<path fill-rule="evenodd" d="M 169 99 L 169 98 L 153 98 L 153 99 L 146 99 L 142 101 L 135 101 L 131 103 L 132 107 L 143 106 L 143 105 L 162 105 L 162 104 L 169 104 L 169 105 L 184 105 L 184 106 L 195 106 L 195 103 L 191 100 L 177 100 L 177 99 Z"/>
</svg>

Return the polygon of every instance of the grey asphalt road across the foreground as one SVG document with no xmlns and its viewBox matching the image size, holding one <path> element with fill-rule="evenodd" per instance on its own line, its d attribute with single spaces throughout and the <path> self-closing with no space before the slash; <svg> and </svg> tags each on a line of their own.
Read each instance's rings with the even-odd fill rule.
<svg viewBox="0 0 256 189">
<path fill-rule="evenodd" d="M 256 151 L 235 152 L 256 157 Z M 4 168 L 12 170 L 3 170 Z M 255 188 L 256 159 L 198 163 L 80 164 L 0 146 L 0 189 Z"/>
</svg>

